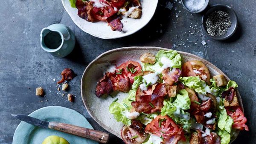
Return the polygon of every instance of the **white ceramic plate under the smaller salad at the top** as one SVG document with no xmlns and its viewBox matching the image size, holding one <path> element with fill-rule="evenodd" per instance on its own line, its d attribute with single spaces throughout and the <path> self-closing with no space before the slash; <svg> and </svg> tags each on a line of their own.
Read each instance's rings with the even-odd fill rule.
<svg viewBox="0 0 256 144">
<path fill-rule="evenodd" d="M 70 6 L 69 0 L 61 0 L 67 13 L 73 22 L 84 32 L 102 39 L 114 39 L 131 35 L 142 29 L 153 17 L 157 8 L 158 0 L 140 0 L 142 6 L 142 15 L 140 19 L 122 17 L 124 25 L 122 32 L 112 31 L 111 27 L 105 21 L 96 23 L 88 22 L 77 15 L 78 9 Z"/>
</svg>

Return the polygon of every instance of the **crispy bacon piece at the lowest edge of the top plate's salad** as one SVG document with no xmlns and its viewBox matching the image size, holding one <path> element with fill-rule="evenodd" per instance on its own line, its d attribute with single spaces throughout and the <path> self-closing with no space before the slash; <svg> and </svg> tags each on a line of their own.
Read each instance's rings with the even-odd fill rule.
<svg viewBox="0 0 256 144">
<path fill-rule="evenodd" d="M 121 17 L 108 17 L 107 22 L 108 26 L 111 27 L 112 31 L 122 31 L 124 25 L 121 22 Z"/>
</svg>

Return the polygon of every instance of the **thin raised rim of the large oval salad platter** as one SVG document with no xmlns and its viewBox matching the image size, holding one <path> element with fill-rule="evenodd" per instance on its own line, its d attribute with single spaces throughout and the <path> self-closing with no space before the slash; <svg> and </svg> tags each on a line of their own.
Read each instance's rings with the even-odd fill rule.
<svg viewBox="0 0 256 144">
<path fill-rule="evenodd" d="M 84 79 L 84 77 L 85 77 L 85 74 L 86 74 L 87 70 L 90 69 L 91 66 L 93 66 L 93 64 L 96 63 L 96 61 L 97 61 L 99 58 L 102 58 L 102 57 L 104 57 L 105 55 L 112 54 L 112 53 L 114 53 L 114 52 L 120 52 L 120 51 L 145 50 L 145 49 L 153 49 L 153 50 L 161 50 L 161 49 L 162 49 L 162 50 L 174 50 L 174 49 L 167 49 L 167 48 L 157 47 L 157 46 L 129 46 L 129 47 L 121 47 L 121 48 L 117 48 L 117 49 L 111 49 L 111 50 L 108 50 L 108 51 L 106 51 L 106 52 L 103 52 L 101 55 L 97 56 L 93 61 L 91 61 L 91 62 L 87 65 L 87 67 L 85 68 L 85 70 L 84 70 L 84 72 L 83 72 L 83 75 L 82 75 L 82 77 L 81 77 L 80 89 L 81 89 L 81 98 L 82 98 L 82 101 L 83 101 L 83 103 L 84 103 L 84 107 L 86 108 L 86 110 L 87 110 L 87 112 L 89 113 L 90 117 L 93 118 L 93 120 L 96 121 L 97 124 L 99 124 L 103 129 L 107 130 L 108 132 L 111 132 L 113 135 L 116 135 L 116 134 L 115 134 L 116 132 L 114 132 L 113 129 L 111 129 L 111 128 L 105 126 L 104 123 L 100 123 L 99 120 L 98 120 L 98 118 L 96 118 L 96 116 L 93 115 L 93 113 L 90 112 L 90 110 L 89 110 L 90 108 L 89 108 L 89 106 L 88 106 L 88 104 L 87 104 L 87 102 L 86 102 L 86 100 L 85 100 L 86 96 L 83 96 L 83 95 L 84 95 L 84 94 L 83 94 L 83 93 L 84 93 L 84 92 L 83 92 L 83 86 L 84 86 L 83 79 Z M 201 58 L 201 57 L 199 57 L 199 56 L 197 56 L 197 55 L 194 55 L 194 54 L 191 54 L 191 53 L 189 53 L 189 52 L 183 52 L 183 51 L 178 51 L 178 50 L 175 50 L 175 51 L 177 51 L 179 54 L 181 54 L 182 57 L 185 56 L 185 55 L 189 55 L 189 56 L 192 56 L 192 57 L 194 57 L 194 58 L 200 60 L 200 61 L 203 62 L 204 64 L 205 64 L 205 63 L 208 63 L 209 65 L 212 66 L 213 69 L 215 69 L 215 71 L 219 72 L 221 75 L 224 75 L 224 77 L 227 78 L 227 80 L 230 80 L 230 78 L 227 77 L 227 75 L 226 75 L 224 72 L 222 72 L 220 69 L 218 69 L 218 67 L 215 66 L 214 64 L 210 63 L 208 60 L 205 60 L 204 58 Z M 242 108 L 242 111 L 244 112 L 244 106 L 243 106 L 243 103 L 242 103 L 242 100 L 241 100 L 241 95 L 240 95 L 240 93 L 239 93 L 239 90 L 236 89 L 236 92 L 237 92 L 237 96 L 238 96 L 238 98 L 239 98 L 240 107 Z M 231 137 L 232 139 L 231 139 L 231 141 L 230 141 L 230 144 L 231 144 L 233 141 L 236 140 L 236 138 L 238 137 L 239 133 L 240 133 L 240 130 L 236 130 L 235 134 Z M 116 135 L 116 136 L 117 136 L 117 135 Z M 119 136 L 117 136 L 117 137 L 119 137 Z M 119 138 L 120 138 L 120 137 L 119 137 Z M 122 139 L 122 138 L 121 138 L 121 139 Z"/>
</svg>

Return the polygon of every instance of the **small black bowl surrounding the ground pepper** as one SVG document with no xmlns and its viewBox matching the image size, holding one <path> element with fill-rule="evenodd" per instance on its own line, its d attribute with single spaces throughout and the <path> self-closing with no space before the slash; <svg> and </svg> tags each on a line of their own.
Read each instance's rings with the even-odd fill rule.
<svg viewBox="0 0 256 144">
<path fill-rule="evenodd" d="M 212 12 L 215 12 L 215 11 L 226 12 L 230 16 L 231 26 L 230 26 L 230 28 L 227 29 L 227 33 L 225 35 L 220 35 L 220 36 L 212 37 L 207 32 L 205 21 L 206 21 L 208 15 L 210 13 L 212 13 Z M 236 29 L 238 27 L 238 19 L 237 19 L 237 16 L 236 16 L 236 12 L 230 6 L 220 5 L 220 4 L 212 6 L 203 15 L 201 23 L 202 23 L 203 29 L 207 33 L 207 35 L 209 35 L 209 37 L 211 37 L 212 39 L 215 39 L 215 40 L 226 40 L 226 39 L 230 38 L 236 32 Z"/>
</svg>

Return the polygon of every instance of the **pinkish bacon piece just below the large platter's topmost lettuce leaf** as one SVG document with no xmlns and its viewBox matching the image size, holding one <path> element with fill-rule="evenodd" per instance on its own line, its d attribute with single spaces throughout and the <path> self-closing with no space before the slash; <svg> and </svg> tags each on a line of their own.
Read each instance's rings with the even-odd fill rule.
<svg viewBox="0 0 256 144">
<path fill-rule="evenodd" d="M 181 70 L 173 68 L 170 71 L 170 68 L 167 68 L 167 69 L 163 70 L 162 74 L 163 74 L 163 80 L 167 84 L 172 86 L 174 83 L 176 83 L 178 81 L 178 78 L 180 77 L 180 74 L 181 74 Z"/>
</svg>

